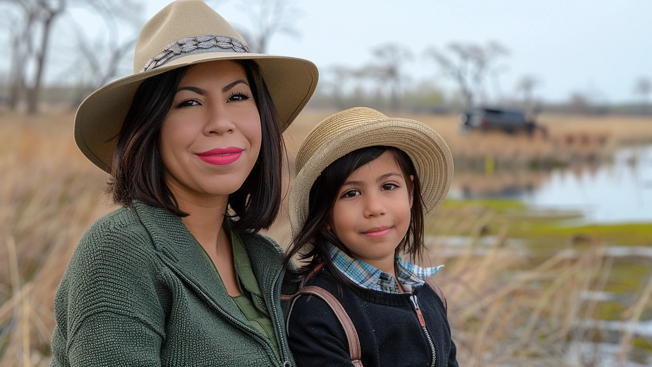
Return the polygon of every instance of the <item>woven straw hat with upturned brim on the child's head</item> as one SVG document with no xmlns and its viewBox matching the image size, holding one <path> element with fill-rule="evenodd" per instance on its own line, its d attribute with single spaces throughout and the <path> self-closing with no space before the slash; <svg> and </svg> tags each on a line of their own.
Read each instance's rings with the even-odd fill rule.
<svg viewBox="0 0 652 367">
<path fill-rule="evenodd" d="M 424 217 L 439 208 L 453 171 L 451 150 L 443 138 L 419 121 L 388 118 L 372 108 L 349 108 L 321 121 L 299 148 L 288 203 L 293 236 L 299 235 L 308 217 L 310 189 L 321 171 L 354 150 L 379 145 L 409 155 L 421 183 Z"/>
</svg>

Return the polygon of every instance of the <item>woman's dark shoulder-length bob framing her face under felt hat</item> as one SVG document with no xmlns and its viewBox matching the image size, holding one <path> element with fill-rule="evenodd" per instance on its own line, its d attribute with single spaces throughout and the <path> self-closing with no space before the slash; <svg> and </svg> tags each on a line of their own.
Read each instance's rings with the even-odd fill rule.
<svg viewBox="0 0 652 367">
<path fill-rule="evenodd" d="M 236 60 L 246 72 L 262 130 L 260 153 L 243 185 L 229 195 L 231 228 L 257 232 L 269 228 L 280 208 L 283 138 L 279 118 L 260 68 L 252 60 Z M 108 193 L 113 201 L 132 206 L 140 200 L 185 217 L 166 186 L 164 167 L 158 155 L 160 128 L 174 101 L 179 82 L 188 71 L 180 67 L 147 78 L 136 91 L 113 151 Z"/>
</svg>

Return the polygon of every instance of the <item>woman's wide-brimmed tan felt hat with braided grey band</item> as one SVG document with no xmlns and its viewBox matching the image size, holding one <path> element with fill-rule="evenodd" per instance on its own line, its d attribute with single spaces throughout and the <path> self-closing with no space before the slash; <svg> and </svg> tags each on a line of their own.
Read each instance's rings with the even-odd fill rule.
<svg viewBox="0 0 652 367">
<path fill-rule="evenodd" d="M 201 0 L 179 0 L 143 26 L 136 42 L 134 74 L 89 95 L 75 116 L 75 142 L 97 167 L 111 172 L 117 135 L 143 80 L 178 67 L 215 60 L 258 63 L 284 131 L 317 86 L 314 63 L 295 57 L 252 54 L 244 39 Z"/>
</svg>

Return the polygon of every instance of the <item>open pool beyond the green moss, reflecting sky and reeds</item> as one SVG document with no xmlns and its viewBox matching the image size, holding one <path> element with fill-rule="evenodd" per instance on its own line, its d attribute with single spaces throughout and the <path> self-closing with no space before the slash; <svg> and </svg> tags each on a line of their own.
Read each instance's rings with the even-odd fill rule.
<svg viewBox="0 0 652 367">
<path fill-rule="evenodd" d="M 652 146 L 625 148 L 612 163 L 552 171 L 456 172 L 455 198 L 511 198 L 535 208 L 580 211 L 594 223 L 652 222 Z"/>
</svg>

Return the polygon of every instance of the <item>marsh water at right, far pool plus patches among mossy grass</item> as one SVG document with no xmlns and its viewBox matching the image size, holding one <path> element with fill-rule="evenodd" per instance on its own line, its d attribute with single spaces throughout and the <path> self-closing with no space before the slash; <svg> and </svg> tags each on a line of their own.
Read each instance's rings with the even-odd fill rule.
<svg viewBox="0 0 652 367">
<path fill-rule="evenodd" d="M 622 148 L 615 152 L 611 161 L 601 165 L 546 172 L 456 172 L 456 178 L 459 180 L 451 190 L 454 199 L 516 199 L 535 212 L 576 214 L 576 219 L 567 221 L 569 225 L 652 225 L 652 145 Z M 439 241 L 446 244 L 446 255 L 454 257 L 462 253 L 464 244 L 471 238 L 448 237 Z M 488 251 L 494 242 L 493 236 L 480 238 L 475 248 L 477 255 Z M 652 243 L 652 238 L 647 243 Z M 634 243 L 630 246 L 604 245 L 604 257 L 614 259 L 612 274 L 618 278 L 614 283 L 626 285 L 611 287 L 608 291 L 585 291 L 581 298 L 610 305 L 607 308 L 625 310 L 633 300 L 640 298 L 645 283 L 652 279 L 652 247 Z M 537 256 L 527 240 L 508 238 L 505 246 L 526 257 Z M 581 250 L 568 251 L 572 257 Z M 600 330 L 603 338 L 595 342 L 570 342 L 565 356 L 569 366 L 652 366 L 652 343 L 649 342 L 652 340 L 652 309 L 647 308 L 636 323 L 629 323 L 624 313 L 618 312 L 605 315 L 604 319 L 599 315 L 595 319 L 578 319 L 576 326 Z M 617 355 L 622 350 L 618 340 L 628 329 L 647 346 L 641 348 L 638 343 L 638 347 L 629 350 L 627 362 L 619 363 Z"/>
</svg>

